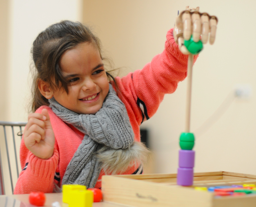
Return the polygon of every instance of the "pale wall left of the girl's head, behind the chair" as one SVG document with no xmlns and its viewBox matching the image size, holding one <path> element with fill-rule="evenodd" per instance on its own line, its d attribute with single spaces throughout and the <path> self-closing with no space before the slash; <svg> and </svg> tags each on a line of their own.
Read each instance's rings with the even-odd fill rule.
<svg viewBox="0 0 256 207">
<path fill-rule="evenodd" d="M 64 19 L 81 21 L 82 0 L 19 1 L 0 4 L 0 120 L 27 121 L 30 101 L 30 48 L 36 36 Z M 2 129 L 0 129 L 2 130 Z M 1 133 L 2 131 L 0 131 Z M 11 148 L 11 137 L 9 146 Z M 11 194 L 5 142 L 0 134 L 6 194 Z M 11 160 L 14 160 L 10 149 Z M 15 173 L 15 169 L 12 169 Z M 14 184 L 17 179 L 14 179 Z"/>
</svg>

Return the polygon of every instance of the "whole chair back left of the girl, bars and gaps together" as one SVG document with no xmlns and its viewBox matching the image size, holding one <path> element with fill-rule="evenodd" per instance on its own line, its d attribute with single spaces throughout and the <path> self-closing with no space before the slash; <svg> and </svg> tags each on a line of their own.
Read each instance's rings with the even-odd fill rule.
<svg viewBox="0 0 256 207">
<path fill-rule="evenodd" d="M 11 186 L 11 193 L 13 194 L 15 183 L 14 180 L 17 180 L 20 172 L 20 162 L 19 162 L 19 145 L 23 135 L 24 127 L 27 122 L 3 122 L 0 121 L 0 138 L 1 139 L 1 148 L 0 148 L 0 195 L 6 195 L 6 189 L 8 183 Z M 2 136 L 3 135 L 3 136 Z M 5 146 L 3 146 L 3 141 Z M 18 148 L 16 147 L 18 145 Z M 2 153 L 1 153 L 2 149 Z M 14 153 L 14 154 L 13 154 Z M 15 159 L 13 158 L 15 157 Z M 13 163 L 15 160 L 15 163 Z M 8 168 L 7 168 L 8 165 Z M 13 167 L 14 166 L 14 167 Z M 14 168 L 14 169 L 13 169 Z M 15 172 L 12 173 L 12 170 Z M 4 175 L 8 175 L 9 172 L 10 179 L 6 178 Z M 8 183 L 7 183 L 8 182 Z"/>
</svg>

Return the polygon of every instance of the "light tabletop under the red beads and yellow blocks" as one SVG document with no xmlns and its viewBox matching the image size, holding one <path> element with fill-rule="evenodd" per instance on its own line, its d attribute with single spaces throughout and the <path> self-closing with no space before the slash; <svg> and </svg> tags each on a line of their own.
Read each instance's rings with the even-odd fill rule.
<svg viewBox="0 0 256 207">
<path fill-rule="evenodd" d="M 68 207 L 66 203 L 62 203 L 62 193 L 46 193 L 46 203 L 44 207 L 52 207 L 53 202 L 58 201 L 61 207 Z M 34 207 L 29 203 L 29 194 L 0 196 L 0 207 Z M 127 207 L 121 204 L 97 202 L 93 203 L 93 207 Z"/>
</svg>

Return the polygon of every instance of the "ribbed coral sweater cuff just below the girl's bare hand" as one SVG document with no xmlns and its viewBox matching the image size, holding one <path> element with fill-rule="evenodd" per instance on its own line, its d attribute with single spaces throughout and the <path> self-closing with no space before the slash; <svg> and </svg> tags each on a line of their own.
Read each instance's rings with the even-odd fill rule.
<svg viewBox="0 0 256 207">
<path fill-rule="evenodd" d="M 49 179 L 54 176 L 59 162 L 59 152 L 55 147 L 53 155 L 48 160 L 38 158 L 32 152 L 29 152 L 28 157 L 28 165 L 30 165 L 30 167 L 28 167 L 34 175 L 38 175 L 38 177 L 42 179 Z"/>
</svg>

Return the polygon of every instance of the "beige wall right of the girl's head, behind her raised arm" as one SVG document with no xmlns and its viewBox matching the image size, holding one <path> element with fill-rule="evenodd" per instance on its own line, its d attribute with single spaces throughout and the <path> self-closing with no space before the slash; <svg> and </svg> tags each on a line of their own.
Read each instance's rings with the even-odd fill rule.
<svg viewBox="0 0 256 207">
<path fill-rule="evenodd" d="M 216 42 L 205 46 L 193 72 L 195 171 L 256 174 L 255 1 L 84 0 L 83 19 L 93 26 L 115 67 L 125 67 L 122 76 L 141 69 L 162 52 L 177 11 L 188 5 L 200 6 L 201 11 L 219 18 Z M 185 125 L 186 84 L 186 80 L 181 82 L 174 94 L 166 95 L 155 116 L 142 124 L 150 130 L 155 153 L 153 172 L 177 170 L 178 139 Z M 236 84 L 250 85 L 252 96 L 235 99 Z M 200 129 L 216 110 L 210 124 Z"/>
</svg>

